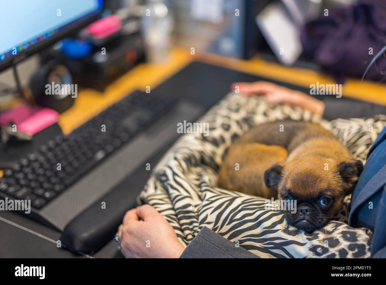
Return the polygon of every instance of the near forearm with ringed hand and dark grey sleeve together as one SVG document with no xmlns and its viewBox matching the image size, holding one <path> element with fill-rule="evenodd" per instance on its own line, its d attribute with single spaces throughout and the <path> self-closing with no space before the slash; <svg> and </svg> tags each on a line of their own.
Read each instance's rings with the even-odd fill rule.
<svg viewBox="0 0 386 285">
<path fill-rule="evenodd" d="M 127 211 L 119 229 L 127 258 L 257 258 L 206 227 L 184 248 L 168 221 L 149 205 Z"/>
</svg>

